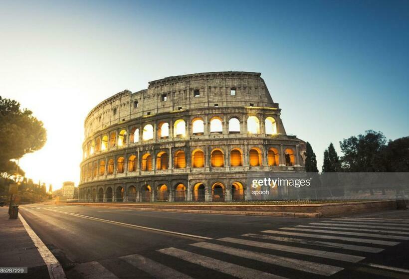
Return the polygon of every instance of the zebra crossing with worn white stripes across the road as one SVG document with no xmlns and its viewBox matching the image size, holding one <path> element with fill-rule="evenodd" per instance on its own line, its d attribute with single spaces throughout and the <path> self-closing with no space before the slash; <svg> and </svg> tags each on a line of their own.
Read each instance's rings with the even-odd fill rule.
<svg viewBox="0 0 409 279">
<path fill-rule="evenodd" d="M 366 225 L 359 224 L 362 222 Z M 386 222 L 390 225 L 385 226 Z M 335 218 L 118 259 L 133 268 L 138 278 L 353 278 L 345 274 L 363 266 L 393 271 L 395 278 L 409 278 L 407 269 L 365 262 L 371 255 L 408 241 L 408 230 L 409 220 L 405 219 Z M 201 272 L 192 272 L 192 267 Z M 75 269 L 84 279 L 121 278 L 99 262 L 81 264 Z M 87 273 L 89 270 L 99 274 Z"/>
</svg>

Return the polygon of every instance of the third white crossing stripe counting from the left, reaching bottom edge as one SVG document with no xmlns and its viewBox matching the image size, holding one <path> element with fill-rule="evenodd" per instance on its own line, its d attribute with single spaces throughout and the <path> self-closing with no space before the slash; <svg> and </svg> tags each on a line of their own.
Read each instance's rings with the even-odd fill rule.
<svg viewBox="0 0 409 279">
<path fill-rule="evenodd" d="M 255 279 L 255 278 L 271 278 L 271 279 L 285 279 L 285 277 L 281 277 L 278 275 L 245 268 L 242 266 L 238 266 L 235 264 L 223 262 L 220 260 L 212 259 L 206 256 L 202 256 L 199 254 L 195 254 L 192 252 L 180 250 L 177 248 L 165 248 L 158 250 L 158 252 L 173 256 L 184 261 L 200 265 L 202 267 L 212 269 L 224 274 L 228 274 L 237 278 L 241 279 Z"/>
</svg>

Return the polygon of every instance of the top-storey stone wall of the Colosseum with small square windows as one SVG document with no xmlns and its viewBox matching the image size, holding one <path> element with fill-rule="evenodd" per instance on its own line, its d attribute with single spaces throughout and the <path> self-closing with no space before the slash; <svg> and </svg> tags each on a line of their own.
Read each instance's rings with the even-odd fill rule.
<svg viewBox="0 0 409 279">
<path fill-rule="evenodd" d="M 215 105 L 278 108 L 260 75 L 252 72 L 199 73 L 151 81 L 148 89 L 135 93 L 125 90 L 101 102 L 88 114 L 84 123 L 85 138 L 130 119 L 176 110 Z M 230 94 L 232 88 L 236 90 L 235 95 Z M 199 97 L 195 97 L 197 90 Z"/>
</svg>

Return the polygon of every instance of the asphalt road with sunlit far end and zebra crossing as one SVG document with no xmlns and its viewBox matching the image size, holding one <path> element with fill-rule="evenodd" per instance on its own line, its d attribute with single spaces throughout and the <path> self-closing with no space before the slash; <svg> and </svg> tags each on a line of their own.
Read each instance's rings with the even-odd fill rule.
<svg viewBox="0 0 409 279">
<path fill-rule="evenodd" d="M 409 210 L 314 219 L 34 204 L 20 213 L 68 279 L 409 278 Z"/>
</svg>

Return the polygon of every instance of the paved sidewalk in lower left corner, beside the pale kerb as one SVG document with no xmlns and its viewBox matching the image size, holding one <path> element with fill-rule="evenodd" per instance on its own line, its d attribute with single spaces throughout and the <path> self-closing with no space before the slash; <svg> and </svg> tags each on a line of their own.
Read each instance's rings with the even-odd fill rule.
<svg viewBox="0 0 409 279">
<path fill-rule="evenodd" d="M 49 278 L 47 266 L 20 219 L 8 219 L 8 207 L 0 207 L 0 267 L 27 267 L 21 275 L 0 274 L 0 278 Z"/>
</svg>

